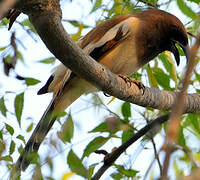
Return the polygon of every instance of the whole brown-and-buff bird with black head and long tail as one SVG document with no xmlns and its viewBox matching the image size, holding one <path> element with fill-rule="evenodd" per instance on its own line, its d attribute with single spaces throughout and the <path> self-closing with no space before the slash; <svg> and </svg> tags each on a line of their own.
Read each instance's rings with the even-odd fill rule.
<svg viewBox="0 0 200 180">
<path fill-rule="evenodd" d="M 77 45 L 98 63 L 122 77 L 129 77 L 163 51 L 180 63 L 178 44 L 188 58 L 187 31 L 174 15 L 159 9 L 144 10 L 106 20 L 92 29 Z M 133 81 L 136 84 L 137 81 Z M 25 171 L 60 113 L 82 94 L 96 87 L 60 64 L 38 95 L 53 92 L 53 98 L 18 158 L 16 170 Z"/>
</svg>

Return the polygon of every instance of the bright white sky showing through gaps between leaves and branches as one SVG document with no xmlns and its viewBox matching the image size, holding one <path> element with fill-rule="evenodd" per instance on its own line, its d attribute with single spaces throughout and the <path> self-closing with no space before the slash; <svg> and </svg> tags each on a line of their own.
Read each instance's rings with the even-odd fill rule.
<svg viewBox="0 0 200 180">
<path fill-rule="evenodd" d="M 72 3 L 65 3 L 65 1 L 61 2 L 61 8 L 63 12 L 63 19 L 67 20 L 81 20 L 85 24 L 90 25 L 91 27 L 95 26 L 95 20 L 99 19 L 101 16 L 101 12 L 93 13 L 92 15 L 89 15 L 89 12 L 92 9 L 92 4 L 89 3 L 88 0 L 74 0 Z M 186 23 L 187 19 L 185 16 L 183 16 L 177 9 L 176 4 L 172 4 L 169 8 L 170 12 L 172 12 L 174 15 L 176 15 L 178 18 L 181 19 L 182 22 Z M 21 15 L 19 17 L 18 21 L 21 19 L 26 18 L 25 15 Z M 70 24 L 63 22 L 63 25 L 68 33 L 75 33 L 76 29 L 74 29 Z M 89 30 L 89 29 L 88 29 Z M 86 33 L 88 30 L 84 30 Z M 14 106 L 13 106 L 13 100 L 16 94 L 19 94 L 23 92 L 26 89 L 25 92 L 25 104 L 24 104 L 24 110 L 23 110 L 23 116 L 22 116 L 22 128 L 19 128 L 19 125 L 15 119 L 15 117 L 8 113 L 8 118 L 5 119 L 3 116 L 0 115 L 1 119 L 3 121 L 6 121 L 6 123 L 14 125 L 18 131 L 15 131 L 16 136 L 18 134 L 25 135 L 26 140 L 28 140 L 31 133 L 27 135 L 26 129 L 30 122 L 30 120 L 34 120 L 34 124 L 37 124 L 40 117 L 42 116 L 43 112 L 45 111 L 45 108 L 48 106 L 48 103 L 51 99 L 51 94 L 38 96 L 36 95 L 37 91 L 40 87 L 46 82 L 50 74 L 52 73 L 53 67 L 51 65 L 43 65 L 41 63 L 37 63 L 37 61 L 42 60 L 46 57 L 51 57 L 51 53 L 47 50 L 45 45 L 41 43 L 41 40 L 34 36 L 33 40 L 30 38 L 26 32 L 20 27 L 19 24 L 15 23 L 14 26 L 11 29 L 11 32 L 16 31 L 16 36 L 19 38 L 19 40 L 23 43 L 23 45 L 26 47 L 24 49 L 22 46 L 19 45 L 20 51 L 22 51 L 25 59 L 25 63 L 23 64 L 19 62 L 16 67 L 16 72 L 20 74 L 21 76 L 25 77 L 33 77 L 36 79 L 39 79 L 41 83 L 39 83 L 36 86 L 30 86 L 26 88 L 25 85 L 23 85 L 22 82 L 16 81 L 14 78 L 14 73 L 12 73 L 12 77 L 6 77 L 3 75 L 3 67 L 0 66 L 0 97 L 5 94 L 5 91 L 10 91 L 8 95 L 6 95 L 6 105 L 9 111 L 14 112 Z M 10 32 L 7 31 L 7 29 L 0 29 L 1 34 L 1 44 L 0 46 L 7 45 L 9 43 L 10 39 Z M 26 35 L 25 35 L 26 34 Z M 181 67 L 179 67 L 179 71 L 181 71 L 185 65 L 185 60 L 183 60 L 183 63 L 181 62 Z M 58 62 L 55 63 L 54 66 L 56 66 Z M 91 104 L 91 95 L 83 96 L 79 100 L 77 100 L 75 103 L 73 103 L 72 106 L 67 110 L 70 111 L 75 122 L 75 135 L 72 140 L 73 147 L 70 144 L 67 145 L 61 145 L 60 152 L 53 152 L 53 150 L 50 150 L 51 156 L 54 159 L 56 164 L 59 164 L 59 167 L 62 168 L 56 168 L 53 172 L 53 177 L 55 179 L 60 179 L 62 175 L 66 172 L 69 172 L 69 169 L 67 167 L 66 163 L 66 155 L 70 148 L 73 148 L 75 153 L 78 155 L 82 155 L 83 149 L 86 144 L 88 144 L 89 141 L 91 141 L 96 134 L 90 134 L 88 135 L 87 132 L 96 127 L 100 122 L 103 122 L 104 118 L 109 115 L 109 113 L 104 110 L 103 108 L 100 109 L 92 109 Z M 100 97 L 104 101 L 104 103 L 108 103 L 111 99 L 111 97 L 105 97 L 103 93 L 100 93 Z M 109 109 L 113 110 L 114 112 L 120 113 L 120 105 L 122 101 L 115 100 L 115 102 L 108 105 Z M 137 105 L 132 105 L 132 114 L 135 115 L 134 120 L 137 121 L 138 127 L 144 126 L 144 121 L 140 121 L 142 117 L 139 115 L 139 112 L 143 112 L 143 108 L 139 108 Z M 94 120 L 95 119 L 95 120 Z M 27 123 L 28 121 L 28 123 Z M 0 129 L 3 127 L 2 121 L 0 121 Z M 17 128 L 18 127 L 18 128 Z M 55 136 L 53 133 L 56 133 L 58 129 L 60 129 L 60 125 L 58 122 L 55 123 L 53 127 L 54 131 L 52 131 L 49 136 Z M 104 136 L 105 134 L 103 134 Z M 8 139 L 9 141 L 9 139 Z M 155 141 L 158 144 L 158 149 L 162 145 L 163 142 L 163 136 L 156 136 Z M 21 143 L 19 141 L 19 143 Z M 106 148 L 108 151 L 111 151 L 112 147 L 119 146 L 121 143 L 121 140 L 115 140 L 108 142 L 106 144 Z M 133 168 L 136 170 L 141 170 L 141 174 L 145 172 L 145 170 L 149 167 L 149 164 L 151 163 L 153 157 L 153 151 L 151 144 L 145 145 L 145 147 L 149 147 L 149 149 L 143 149 L 143 144 L 135 143 L 131 146 L 131 148 L 128 149 L 128 152 L 134 152 L 132 156 L 123 155 L 123 158 L 119 158 L 117 162 L 123 162 L 124 164 L 127 163 L 127 166 L 130 164 L 133 164 Z M 48 152 L 47 145 L 42 145 L 39 153 L 45 153 Z M 152 156 L 149 156 L 149 154 L 152 154 Z M 61 154 L 61 155 L 60 155 Z M 162 154 L 161 154 L 162 156 Z M 145 161 L 149 163 L 143 163 Z M 14 161 L 16 161 L 18 158 L 18 154 L 15 155 Z M 56 160 L 55 160 L 56 159 Z M 64 159 L 64 162 L 63 162 Z M 94 155 L 92 154 L 89 159 L 84 160 L 86 166 L 93 163 L 92 161 L 95 159 L 95 162 L 100 162 L 103 159 L 103 156 L 101 155 Z M 134 162 L 134 163 L 133 163 Z M 142 163 L 141 163 L 142 162 Z M 102 165 L 102 164 L 100 164 Z M 134 165 L 137 165 L 135 167 Z M 49 170 L 43 166 L 42 171 L 44 174 L 49 174 Z M 100 167 L 100 166 L 99 166 Z M 155 165 L 155 169 L 157 169 L 157 165 Z M 22 179 L 30 179 L 30 173 L 33 171 L 33 167 L 30 167 L 24 174 Z M 110 174 L 111 170 L 107 171 L 102 179 L 109 179 L 108 175 Z M 0 179 L 7 179 L 8 173 L 5 172 L 5 168 L 0 169 Z M 82 179 L 77 176 L 73 176 L 71 179 Z"/>
</svg>

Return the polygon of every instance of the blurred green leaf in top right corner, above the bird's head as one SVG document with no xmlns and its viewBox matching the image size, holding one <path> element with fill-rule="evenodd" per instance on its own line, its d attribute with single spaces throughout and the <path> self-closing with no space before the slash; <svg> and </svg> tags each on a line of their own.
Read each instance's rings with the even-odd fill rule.
<svg viewBox="0 0 200 180">
<path fill-rule="evenodd" d="M 196 18 L 196 13 L 183 0 L 177 0 L 177 5 L 186 16 Z"/>
</svg>

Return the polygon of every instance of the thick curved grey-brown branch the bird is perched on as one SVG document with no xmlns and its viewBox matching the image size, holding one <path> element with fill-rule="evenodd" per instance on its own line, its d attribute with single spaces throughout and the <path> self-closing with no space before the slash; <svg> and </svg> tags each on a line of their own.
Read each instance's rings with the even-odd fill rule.
<svg viewBox="0 0 200 180">
<path fill-rule="evenodd" d="M 61 24 L 61 12 L 58 3 L 52 3 L 52 0 L 42 0 L 42 3 L 40 1 L 22 0 L 20 1 L 22 2 L 20 9 L 29 15 L 47 48 L 64 65 L 100 90 L 124 101 L 157 109 L 170 109 L 172 107 L 177 93 L 146 88 L 144 94 L 142 94 L 136 85 L 133 84 L 129 87 L 124 80 L 86 55 L 71 40 Z M 32 6 L 35 8 L 31 9 Z M 19 4 L 17 7 L 19 7 Z M 197 112 L 199 110 L 199 95 L 187 95 L 184 101 L 184 112 Z"/>
</svg>

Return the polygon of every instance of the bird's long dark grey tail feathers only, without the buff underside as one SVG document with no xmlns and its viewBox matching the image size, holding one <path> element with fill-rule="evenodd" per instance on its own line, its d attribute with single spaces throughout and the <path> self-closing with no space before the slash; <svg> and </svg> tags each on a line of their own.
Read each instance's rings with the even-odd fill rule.
<svg viewBox="0 0 200 180">
<path fill-rule="evenodd" d="M 37 151 L 45 136 L 53 126 L 57 116 L 52 116 L 55 97 L 50 102 L 34 132 L 28 140 L 15 165 L 15 172 L 25 171 L 29 164 L 37 157 Z"/>
</svg>

